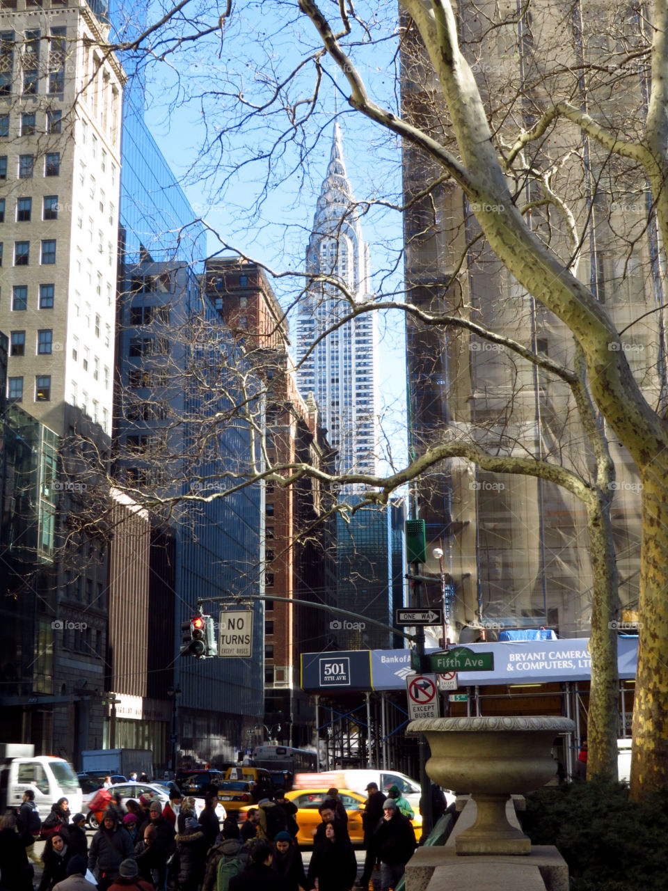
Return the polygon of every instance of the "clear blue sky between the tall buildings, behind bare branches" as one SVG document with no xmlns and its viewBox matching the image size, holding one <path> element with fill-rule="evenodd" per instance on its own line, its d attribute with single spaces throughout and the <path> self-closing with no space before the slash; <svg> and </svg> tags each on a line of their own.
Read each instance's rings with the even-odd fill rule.
<svg viewBox="0 0 668 891">
<path fill-rule="evenodd" d="M 355 64 L 381 102 L 395 103 L 395 22 L 379 20 L 372 27 L 375 37 L 387 39 L 354 48 Z M 277 108 L 249 113 L 244 104 L 264 102 L 273 82 L 287 78 L 296 66 L 299 53 L 315 47 L 317 36 L 296 4 L 247 4 L 225 29 L 222 43 L 208 37 L 170 57 L 168 65 L 147 69 L 147 123 L 196 212 L 211 226 L 210 252 L 224 242 L 277 272 L 303 272 L 337 114 L 355 198 L 398 202 L 400 145 L 350 109 L 346 82 L 329 60 L 322 61 L 318 101 L 294 133 L 289 133 L 284 108 L 312 93 L 313 63 L 285 89 Z M 279 147 L 268 162 L 265 153 L 276 139 Z M 362 225 L 370 245 L 371 290 L 401 290 L 401 214 L 371 207 Z M 299 280 L 282 278 L 274 284 L 287 306 Z M 401 455 L 406 438 L 403 317 L 379 319 L 379 333 L 380 407 L 393 452 Z"/>
</svg>

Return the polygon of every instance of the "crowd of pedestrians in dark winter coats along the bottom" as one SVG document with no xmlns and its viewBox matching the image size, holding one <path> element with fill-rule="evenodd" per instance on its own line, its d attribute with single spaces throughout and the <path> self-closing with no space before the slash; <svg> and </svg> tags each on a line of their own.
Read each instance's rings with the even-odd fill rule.
<svg viewBox="0 0 668 891">
<path fill-rule="evenodd" d="M 70 815 L 59 798 L 44 822 L 27 790 L 17 812 L 0 820 L 0 891 L 350 891 L 369 887 L 380 871 L 381 891 L 395 888 L 416 846 L 411 805 L 399 789 L 387 797 L 367 786 L 363 813 L 366 857 L 361 879 L 337 789 L 319 807 L 308 869 L 297 846 L 297 807 L 284 796 L 248 810 L 240 825 L 216 815 L 217 790 L 205 790 L 200 817 L 194 798 L 177 789 L 163 806 L 146 794 L 138 801 L 111 797 L 88 844 L 86 817 Z M 37 838 L 45 841 L 41 858 Z M 32 863 L 42 869 L 37 888 Z"/>
</svg>

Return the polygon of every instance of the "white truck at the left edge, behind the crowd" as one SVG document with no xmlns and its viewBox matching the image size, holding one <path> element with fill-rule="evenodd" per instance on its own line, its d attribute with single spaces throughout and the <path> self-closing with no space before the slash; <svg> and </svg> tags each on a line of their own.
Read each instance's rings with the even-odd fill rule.
<svg viewBox="0 0 668 891">
<path fill-rule="evenodd" d="M 59 798 L 67 798 L 69 813 L 81 810 L 81 788 L 72 765 L 52 755 L 35 755 L 29 743 L 0 743 L 0 813 L 20 807 L 23 793 L 32 789 L 42 820 Z"/>
</svg>

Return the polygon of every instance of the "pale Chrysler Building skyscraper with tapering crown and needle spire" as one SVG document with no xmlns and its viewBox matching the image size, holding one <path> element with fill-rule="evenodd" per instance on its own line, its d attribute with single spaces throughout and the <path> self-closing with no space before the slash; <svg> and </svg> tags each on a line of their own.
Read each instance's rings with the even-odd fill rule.
<svg viewBox="0 0 668 891">
<path fill-rule="evenodd" d="M 315 280 L 297 315 L 297 387 L 304 396 L 314 393 L 338 450 L 338 471 L 375 473 L 376 314 L 356 315 L 334 327 L 370 297 L 369 249 L 346 176 L 338 123 L 306 249 L 306 274 Z M 334 282 L 345 288 L 345 296 Z"/>
</svg>

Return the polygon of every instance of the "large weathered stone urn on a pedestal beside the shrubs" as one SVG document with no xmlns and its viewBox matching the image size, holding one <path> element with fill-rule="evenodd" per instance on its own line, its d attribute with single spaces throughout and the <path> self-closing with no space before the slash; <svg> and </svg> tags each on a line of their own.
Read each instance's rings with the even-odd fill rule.
<svg viewBox="0 0 668 891">
<path fill-rule="evenodd" d="M 427 737 L 428 776 L 476 802 L 476 822 L 455 838 L 457 854 L 529 854 L 531 842 L 508 822 L 506 803 L 552 779 L 552 743 L 573 732 L 574 722 L 547 715 L 420 718 L 406 729 Z"/>
</svg>

